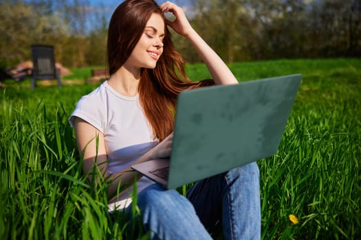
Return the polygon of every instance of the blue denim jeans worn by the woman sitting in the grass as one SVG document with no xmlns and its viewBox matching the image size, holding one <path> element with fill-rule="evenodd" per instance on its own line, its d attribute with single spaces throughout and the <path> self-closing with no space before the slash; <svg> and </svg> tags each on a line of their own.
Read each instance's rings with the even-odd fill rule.
<svg viewBox="0 0 361 240">
<path fill-rule="evenodd" d="M 211 239 L 217 222 L 225 239 L 261 239 L 256 163 L 201 180 L 186 197 L 152 184 L 138 194 L 138 206 L 152 239 Z"/>
</svg>

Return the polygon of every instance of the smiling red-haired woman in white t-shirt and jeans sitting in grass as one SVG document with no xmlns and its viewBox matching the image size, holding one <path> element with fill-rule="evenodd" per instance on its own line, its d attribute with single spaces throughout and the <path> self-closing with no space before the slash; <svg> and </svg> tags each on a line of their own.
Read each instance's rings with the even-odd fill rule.
<svg viewBox="0 0 361 240">
<path fill-rule="evenodd" d="M 174 21 L 164 18 L 166 12 Z M 259 169 L 256 163 L 197 182 L 183 197 L 175 190 L 141 178 L 130 166 L 171 155 L 177 95 L 213 84 L 190 82 L 184 60 L 175 50 L 168 28 L 187 38 L 206 63 L 214 84 L 237 84 L 226 64 L 195 32 L 177 5 L 128 0 L 109 23 L 107 57 L 110 78 L 80 99 L 69 122 L 83 171 L 98 165 L 109 187 L 110 202 L 128 207 L 131 186 L 139 178 L 138 206 L 152 239 L 210 239 L 221 221 L 226 239 L 259 239 L 261 228 Z M 114 197 L 115 195 L 115 197 Z"/>
</svg>

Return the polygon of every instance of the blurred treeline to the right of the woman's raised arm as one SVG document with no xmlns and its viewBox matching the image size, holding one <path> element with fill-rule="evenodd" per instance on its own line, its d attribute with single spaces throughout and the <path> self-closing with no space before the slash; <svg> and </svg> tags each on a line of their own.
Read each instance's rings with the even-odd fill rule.
<svg viewBox="0 0 361 240">
<path fill-rule="evenodd" d="M 359 1 L 198 0 L 194 9 L 193 26 L 226 62 L 361 54 Z"/>
</svg>

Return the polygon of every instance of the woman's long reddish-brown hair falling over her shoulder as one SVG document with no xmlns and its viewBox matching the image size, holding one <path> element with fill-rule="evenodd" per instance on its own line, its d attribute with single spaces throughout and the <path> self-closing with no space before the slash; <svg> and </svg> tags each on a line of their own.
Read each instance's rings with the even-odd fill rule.
<svg viewBox="0 0 361 240">
<path fill-rule="evenodd" d="M 116 8 L 108 30 L 107 58 L 110 75 L 127 61 L 153 13 L 162 10 L 153 0 L 127 0 Z M 173 132 L 177 95 L 184 90 L 208 86 L 212 80 L 192 82 L 184 70 L 185 60 L 177 52 L 171 32 L 164 29 L 164 47 L 155 69 L 142 69 L 138 86 L 140 102 L 155 138 L 162 141 Z"/>
</svg>

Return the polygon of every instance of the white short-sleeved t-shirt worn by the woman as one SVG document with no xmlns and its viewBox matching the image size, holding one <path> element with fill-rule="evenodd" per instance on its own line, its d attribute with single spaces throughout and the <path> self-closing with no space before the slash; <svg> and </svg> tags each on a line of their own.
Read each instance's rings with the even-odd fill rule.
<svg viewBox="0 0 361 240">
<path fill-rule="evenodd" d="M 108 171 L 116 173 L 132 165 L 140 156 L 153 148 L 157 141 L 146 119 L 138 95 L 123 96 L 106 82 L 83 96 L 69 118 L 74 127 L 74 117 L 79 117 L 104 134 L 108 154 Z M 138 193 L 152 184 L 148 178 L 138 180 Z M 131 194 L 132 189 L 128 193 Z M 123 208 L 131 203 L 129 194 L 120 196 L 116 203 Z M 109 208 L 113 209 L 113 204 Z"/>
</svg>

